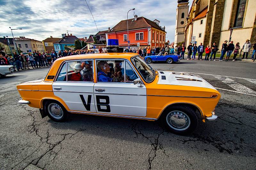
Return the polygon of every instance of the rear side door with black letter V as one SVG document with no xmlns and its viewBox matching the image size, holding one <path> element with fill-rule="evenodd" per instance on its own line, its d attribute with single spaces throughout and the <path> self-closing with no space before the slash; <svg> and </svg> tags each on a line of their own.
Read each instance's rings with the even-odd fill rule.
<svg viewBox="0 0 256 170">
<path fill-rule="evenodd" d="M 93 86 L 93 60 L 72 60 L 62 65 L 52 89 L 71 111 L 96 112 Z"/>
</svg>

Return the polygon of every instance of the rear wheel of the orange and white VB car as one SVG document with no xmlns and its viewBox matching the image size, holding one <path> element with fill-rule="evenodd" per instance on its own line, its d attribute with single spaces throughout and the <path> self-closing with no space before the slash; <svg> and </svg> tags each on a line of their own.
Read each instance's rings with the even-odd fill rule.
<svg viewBox="0 0 256 170">
<path fill-rule="evenodd" d="M 58 101 L 46 101 L 44 104 L 44 112 L 50 119 L 56 122 L 63 122 L 68 119 L 68 112 Z"/>
</svg>

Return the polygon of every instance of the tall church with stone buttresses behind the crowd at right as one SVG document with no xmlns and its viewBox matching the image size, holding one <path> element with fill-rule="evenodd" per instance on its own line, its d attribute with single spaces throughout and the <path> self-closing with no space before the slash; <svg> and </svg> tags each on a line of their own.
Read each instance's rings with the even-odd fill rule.
<svg viewBox="0 0 256 170">
<path fill-rule="evenodd" d="M 256 42 L 255 0 L 194 0 L 186 20 L 185 45 L 196 36 L 197 43 L 211 45 L 215 42 L 219 49 L 230 38 L 242 47 L 245 40 Z"/>
</svg>

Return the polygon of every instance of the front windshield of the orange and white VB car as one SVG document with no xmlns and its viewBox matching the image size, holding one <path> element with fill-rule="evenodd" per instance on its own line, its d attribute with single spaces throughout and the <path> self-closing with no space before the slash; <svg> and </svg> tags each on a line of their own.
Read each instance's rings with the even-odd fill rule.
<svg viewBox="0 0 256 170">
<path fill-rule="evenodd" d="M 132 63 L 135 65 L 137 70 L 140 72 L 140 75 L 142 75 L 143 79 L 146 82 L 151 82 L 156 77 L 156 72 L 153 70 L 152 67 L 150 67 L 142 57 L 136 56 L 132 58 Z"/>
</svg>

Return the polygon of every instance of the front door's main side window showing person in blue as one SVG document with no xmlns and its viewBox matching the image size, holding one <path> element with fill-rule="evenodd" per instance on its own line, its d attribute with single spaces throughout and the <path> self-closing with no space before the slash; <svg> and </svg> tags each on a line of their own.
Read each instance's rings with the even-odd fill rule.
<svg viewBox="0 0 256 170">
<path fill-rule="evenodd" d="M 97 61 L 98 82 L 124 82 L 124 60 Z"/>
</svg>

